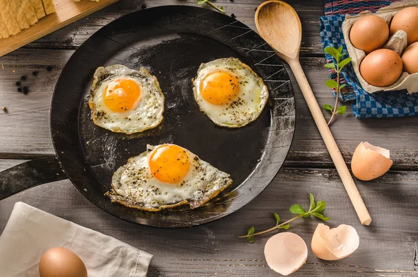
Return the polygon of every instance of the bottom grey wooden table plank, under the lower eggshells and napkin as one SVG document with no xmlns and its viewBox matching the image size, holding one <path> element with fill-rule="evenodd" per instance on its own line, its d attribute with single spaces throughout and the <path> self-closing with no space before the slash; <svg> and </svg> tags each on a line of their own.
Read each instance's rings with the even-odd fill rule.
<svg viewBox="0 0 418 277">
<path fill-rule="evenodd" d="M 0 170 L 22 160 L 0 160 Z M 335 170 L 282 169 L 272 184 L 246 207 L 226 219 L 185 229 L 155 229 L 127 223 L 104 213 L 88 202 L 70 181 L 31 188 L 0 202 L 0 230 L 6 225 L 15 202 L 92 228 L 154 255 L 148 277 L 158 276 L 279 276 L 265 262 L 263 247 L 270 237 L 255 244 L 236 238 L 249 225 L 258 230 L 272 227 L 272 211 L 291 218 L 292 204 L 307 206 L 307 193 L 327 201 L 325 214 L 331 226 L 353 225 L 359 233 L 358 250 L 341 261 L 318 260 L 311 252 L 315 218 L 291 224 L 309 246 L 307 264 L 292 276 L 418 276 L 418 172 L 390 172 L 380 179 L 357 182 L 373 216 L 362 226 L 346 197 Z"/>
</svg>

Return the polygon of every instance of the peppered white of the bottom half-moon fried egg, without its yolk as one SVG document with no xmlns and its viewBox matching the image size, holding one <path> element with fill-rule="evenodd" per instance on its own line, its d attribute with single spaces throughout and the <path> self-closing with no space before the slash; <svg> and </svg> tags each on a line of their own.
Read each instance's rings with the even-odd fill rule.
<svg viewBox="0 0 418 277">
<path fill-rule="evenodd" d="M 184 149 L 189 156 L 189 172 L 176 184 L 157 180 L 149 167 L 149 159 L 158 146 L 147 145 L 147 151 L 130 158 L 116 170 L 107 196 L 112 202 L 127 207 L 160 211 L 183 204 L 191 209 L 200 207 L 227 188 L 232 179 L 229 174 L 217 170 L 195 154 Z"/>
</svg>

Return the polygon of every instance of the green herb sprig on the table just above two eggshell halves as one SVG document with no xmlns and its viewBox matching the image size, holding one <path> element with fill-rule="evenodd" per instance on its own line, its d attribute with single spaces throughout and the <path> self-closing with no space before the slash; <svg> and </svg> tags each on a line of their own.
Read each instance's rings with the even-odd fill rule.
<svg viewBox="0 0 418 277">
<path fill-rule="evenodd" d="M 312 195 L 311 193 L 309 193 L 309 202 L 310 202 L 309 211 L 305 211 L 302 208 L 302 206 L 300 206 L 300 204 L 294 204 L 289 209 L 289 211 L 291 211 L 292 214 L 297 214 L 298 216 L 295 216 L 294 218 L 291 218 L 284 223 L 280 223 L 280 216 L 277 213 L 273 212 L 273 216 L 276 219 L 276 225 L 274 227 L 271 227 L 270 229 L 267 229 L 261 232 L 256 232 L 256 228 L 254 226 L 251 226 L 248 228 L 247 234 L 245 236 L 240 236 L 239 238 L 246 238 L 250 244 L 254 244 L 254 242 L 256 241 L 254 239 L 254 236 L 272 232 L 277 229 L 288 230 L 289 227 L 291 227 L 290 223 L 293 220 L 296 220 L 297 218 L 309 218 L 310 216 L 315 216 L 319 218 L 320 220 L 324 220 L 324 221 L 331 219 L 323 215 L 325 208 L 327 207 L 327 202 L 325 201 L 315 202 L 314 195 Z"/>
</svg>

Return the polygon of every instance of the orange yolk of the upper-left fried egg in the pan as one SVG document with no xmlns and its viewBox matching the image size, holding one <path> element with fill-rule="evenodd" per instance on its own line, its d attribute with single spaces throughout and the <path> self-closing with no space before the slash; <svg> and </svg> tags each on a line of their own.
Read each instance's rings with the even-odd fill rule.
<svg viewBox="0 0 418 277">
<path fill-rule="evenodd" d="M 132 110 L 141 95 L 137 82 L 130 79 L 114 80 L 104 91 L 104 105 L 112 112 Z"/>
</svg>

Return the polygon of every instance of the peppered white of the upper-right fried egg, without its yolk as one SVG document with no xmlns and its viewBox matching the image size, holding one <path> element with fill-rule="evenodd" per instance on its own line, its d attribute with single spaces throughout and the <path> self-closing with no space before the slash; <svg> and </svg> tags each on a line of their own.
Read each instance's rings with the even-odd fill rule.
<svg viewBox="0 0 418 277">
<path fill-rule="evenodd" d="M 239 93 L 232 103 L 213 105 L 201 96 L 200 86 L 206 75 L 219 70 L 229 72 L 237 78 Z M 251 123 L 263 112 L 268 100 L 268 89 L 263 79 L 249 66 L 235 58 L 202 63 L 192 82 L 194 99 L 200 110 L 219 126 L 239 128 Z"/>
</svg>

